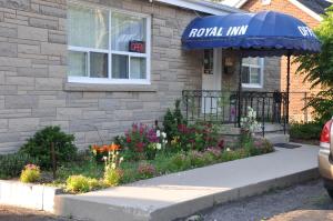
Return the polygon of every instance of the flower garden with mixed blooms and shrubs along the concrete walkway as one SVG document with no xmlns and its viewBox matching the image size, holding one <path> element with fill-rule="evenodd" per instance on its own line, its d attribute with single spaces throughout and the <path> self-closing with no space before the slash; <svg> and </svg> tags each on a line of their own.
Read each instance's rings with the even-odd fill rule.
<svg viewBox="0 0 333 221">
<path fill-rule="evenodd" d="M 110 143 L 92 144 L 85 151 L 78 151 L 73 135 L 47 127 L 19 152 L 0 157 L 0 178 L 80 193 L 273 151 L 270 142 L 252 134 L 259 127 L 253 110 L 242 119 L 240 141 L 226 142 L 219 134 L 220 125 L 189 123 L 179 107 L 178 101 L 174 110 L 167 111 L 161 125 L 133 123 Z"/>
</svg>

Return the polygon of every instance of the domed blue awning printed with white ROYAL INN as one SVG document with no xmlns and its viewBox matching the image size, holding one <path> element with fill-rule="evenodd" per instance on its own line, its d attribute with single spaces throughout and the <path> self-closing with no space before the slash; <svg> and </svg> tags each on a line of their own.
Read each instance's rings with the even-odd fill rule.
<svg viewBox="0 0 333 221">
<path fill-rule="evenodd" d="M 320 52 L 321 43 L 301 20 L 275 11 L 194 19 L 182 36 L 184 49 L 235 49 L 249 56 Z"/>
</svg>

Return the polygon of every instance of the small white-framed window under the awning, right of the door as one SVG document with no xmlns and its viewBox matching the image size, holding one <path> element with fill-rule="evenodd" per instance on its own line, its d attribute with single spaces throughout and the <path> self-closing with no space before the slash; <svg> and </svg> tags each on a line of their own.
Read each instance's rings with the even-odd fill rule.
<svg viewBox="0 0 333 221">
<path fill-rule="evenodd" d="M 263 58 L 243 58 L 242 60 L 242 87 L 262 88 L 263 87 Z"/>
</svg>

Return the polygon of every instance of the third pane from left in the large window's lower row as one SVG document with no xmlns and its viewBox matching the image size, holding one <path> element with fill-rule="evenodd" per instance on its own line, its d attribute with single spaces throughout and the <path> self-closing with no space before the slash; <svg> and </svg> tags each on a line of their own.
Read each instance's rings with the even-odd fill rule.
<svg viewBox="0 0 333 221">
<path fill-rule="evenodd" d="M 112 54 L 112 78 L 128 79 L 129 78 L 129 57 Z"/>
</svg>

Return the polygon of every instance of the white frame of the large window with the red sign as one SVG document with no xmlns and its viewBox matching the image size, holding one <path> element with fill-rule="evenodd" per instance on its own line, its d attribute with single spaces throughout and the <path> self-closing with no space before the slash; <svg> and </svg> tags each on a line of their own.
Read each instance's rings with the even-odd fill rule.
<svg viewBox="0 0 333 221">
<path fill-rule="evenodd" d="M 77 77 L 77 76 L 68 76 L 69 83 L 98 83 L 98 84 L 151 84 L 151 16 L 137 13 L 125 10 L 113 9 L 110 7 L 95 6 L 93 3 L 81 3 L 78 1 L 69 1 L 70 6 L 83 7 L 83 8 L 92 8 L 107 10 L 109 14 L 109 49 L 94 49 L 94 48 L 85 48 L 85 47 L 73 47 L 68 44 L 68 52 L 78 51 L 78 52 L 102 52 L 108 53 L 108 78 L 90 78 L 90 77 Z M 145 39 L 145 53 L 135 53 L 129 51 L 115 51 L 112 50 L 111 47 L 111 14 L 112 12 L 124 13 L 128 16 L 134 16 L 145 19 L 145 29 L 147 29 L 147 39 Z M 134 58 L 145 58 L 145 79 L 112 79 L 112 54 L 122 54 L 128 56 L 129 59 L 129 78 L 131 74 L 131 57 Z M 90 69 L 89 56 L 87 61 L 87 69 Z M 89 71 L 88 71 L 89 72 Z"/>
</svg>

